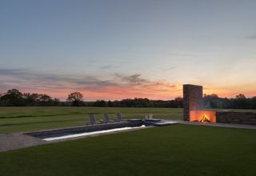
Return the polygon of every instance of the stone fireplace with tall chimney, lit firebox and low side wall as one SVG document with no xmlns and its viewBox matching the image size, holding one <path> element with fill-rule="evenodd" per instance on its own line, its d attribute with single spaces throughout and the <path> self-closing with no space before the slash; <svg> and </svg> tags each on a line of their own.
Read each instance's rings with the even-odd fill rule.
<svg viewBox="0 0 256 176">
<path fill-rule="evenodd" d="M 204 110 L 202 86 L 183 85 L 183 120 L 256 125 L 256 113 L 234 110 Z"/>
</svg>

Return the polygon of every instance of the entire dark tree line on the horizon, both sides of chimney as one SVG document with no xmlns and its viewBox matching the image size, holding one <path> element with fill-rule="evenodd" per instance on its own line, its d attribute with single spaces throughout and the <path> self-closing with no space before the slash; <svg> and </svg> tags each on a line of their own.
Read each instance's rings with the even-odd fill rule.
<svg viewBox="0 0 256 176">
<path fill-rule="evenodd" d="M 219 98 L 217 94 L 205 94 L 203 105 L 206 109 L 256 109 L 256 97 L 246 98 L 238 94 L 235 98 Z M 65 102 L 58 98 L 51 98 L 47 94 L 22 93 L 17 89 L 8 90 L 0 94 L 0 106 L 99 106 L 99 107 L 171 107 L 182 108 L 181 97 L 173 100 L 150 100 L 148 98 L 126 98 L 120 101 L 97 100 L 83 101 L 80 92 L 70 93 Z"/>
</svg>

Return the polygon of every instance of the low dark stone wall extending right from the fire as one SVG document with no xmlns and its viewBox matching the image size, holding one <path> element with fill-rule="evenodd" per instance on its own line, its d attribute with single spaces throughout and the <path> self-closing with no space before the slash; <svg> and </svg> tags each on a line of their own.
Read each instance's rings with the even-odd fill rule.
<svg viewBox="0 0 256 176">
<path fill-rule="evenodd" d="M 216 112 L 216 122 L 256 125 L 256 113 L 250 112 Z"/>
</svg>

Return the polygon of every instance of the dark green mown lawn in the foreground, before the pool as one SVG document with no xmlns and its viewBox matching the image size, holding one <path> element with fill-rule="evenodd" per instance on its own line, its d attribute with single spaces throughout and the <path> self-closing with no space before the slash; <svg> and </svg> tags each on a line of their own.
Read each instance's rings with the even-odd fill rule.
<svg viewBox="0 0 256 176">
<path fill-rule="evenodd" d="M 256 130 L 165 126 L 0 153 L 0 175 L 256 175 Z"/>
</svg>

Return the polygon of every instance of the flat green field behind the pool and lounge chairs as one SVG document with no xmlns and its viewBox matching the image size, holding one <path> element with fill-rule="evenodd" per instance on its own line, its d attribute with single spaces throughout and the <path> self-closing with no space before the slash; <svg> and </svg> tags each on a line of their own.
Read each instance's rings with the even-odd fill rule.
<svg viewBox="0 0 256 176">
<path fill-rule="evenodd" d="M 101 119 L 102 113 L 114 118 L 117 112 L 123 118 L 144 118 L 153 113 L 154 118 L 182 119 L 182 109 L 178 108 L 0 107 L 0 134 L 84 126 L 90 113 Z"/>
</svg>

